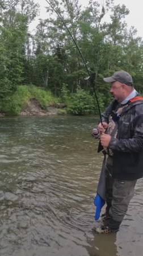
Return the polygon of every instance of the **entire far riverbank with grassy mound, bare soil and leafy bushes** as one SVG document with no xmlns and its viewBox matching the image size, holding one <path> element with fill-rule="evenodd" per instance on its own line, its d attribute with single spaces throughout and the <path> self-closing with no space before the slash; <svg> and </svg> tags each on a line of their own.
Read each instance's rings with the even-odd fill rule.
<svg viewBox="0 0 143 256">
<path fill-rule="evenodd" d="M 86 115 L 95 113 L 94 98 L 85 90 L 77 89 L 70 94 L 64 92 L 59 97 L 51 91 L 33 85 L 20 85 L 0 104 L 1 116 L 16 115 Z"/>
</svg>

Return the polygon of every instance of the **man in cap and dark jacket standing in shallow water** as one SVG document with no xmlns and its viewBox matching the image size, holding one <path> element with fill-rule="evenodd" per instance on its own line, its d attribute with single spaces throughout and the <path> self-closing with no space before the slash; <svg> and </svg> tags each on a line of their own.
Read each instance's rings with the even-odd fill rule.
<svg viewBox="0 0 143 256">
<path fill-rule="evenodd" d="M 111 82 L 115 97 L 99 123 L 100 144 L 106 160 L 106 225 L 98 233 L 117 232 L 132 199 L 137 179 L 143 176 L 143 98 L 133 88 L 131 75 L 117 71 L 103 79 Z"/>
</svg>

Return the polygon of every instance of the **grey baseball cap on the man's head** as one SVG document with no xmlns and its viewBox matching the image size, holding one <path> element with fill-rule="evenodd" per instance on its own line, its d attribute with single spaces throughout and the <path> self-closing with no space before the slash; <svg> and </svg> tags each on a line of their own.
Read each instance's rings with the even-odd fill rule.
<svg viewBox="0 0 143 256">
<path fill-rule="evenodd" d="M 126 84 L 126 85 L 130 85 L 130 86 L 133 85 L 132 76 L 129 75 L 128 72 L 125 72 L 123 70 L 113 73 L 113 75 L 110 76 L 110 77 L 104 77 L 103 80 L 105 82 L 119 81 L 119 82 L 121 82 L 123 84 Z"/>
</svg>

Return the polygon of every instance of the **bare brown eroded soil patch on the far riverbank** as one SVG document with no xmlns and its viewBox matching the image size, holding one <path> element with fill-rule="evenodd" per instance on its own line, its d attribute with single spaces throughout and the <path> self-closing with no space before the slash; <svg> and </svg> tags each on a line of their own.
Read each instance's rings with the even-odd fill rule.
<svg viewBox="0 0 143 256">
<path fill-rule="evenodd" d="M 39 101 L 35 98 L 31 98 L 30 101 L 27 102 L 26 106 L 20 113 L 20 115 L 56 115 L 57 108 L 54 106 L 49 106 L 48 111 L 45 111 L 41 108 Z"/>
</svg>

